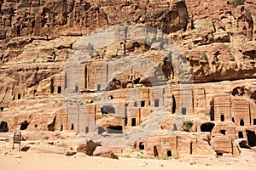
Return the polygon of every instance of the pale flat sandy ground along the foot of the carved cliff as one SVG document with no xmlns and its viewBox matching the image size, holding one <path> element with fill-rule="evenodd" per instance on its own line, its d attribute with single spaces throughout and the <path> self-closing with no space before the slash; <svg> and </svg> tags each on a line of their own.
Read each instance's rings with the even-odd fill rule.
<svg viewBox="0 0 256 170">
<path fill-rule="evenodd" d="M 102 157 L 90 157 L 84 154 L 63 156 L 57 154 L 38 153 L 36 150 L 22 152 L 17 150 L 0 150 L 0 170 L 40 170 L 40 169 L 229 169 L 229 170 L 256 170 L 256 153 L 251 150 L 242 150 L 239 157 L 221 157 L 216 159 L 138 159 L 119 157 L 113 160 Z"/>
</svg>

